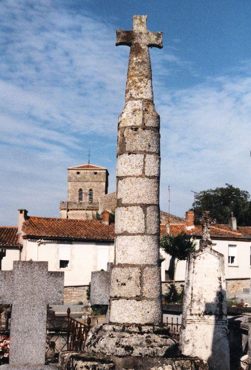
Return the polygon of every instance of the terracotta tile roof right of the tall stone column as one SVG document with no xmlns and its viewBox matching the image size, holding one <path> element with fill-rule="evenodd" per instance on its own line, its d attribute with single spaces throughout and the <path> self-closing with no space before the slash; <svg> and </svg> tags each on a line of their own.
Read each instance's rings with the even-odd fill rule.
<svg viewBox="0 0 251 370">
<path fill-rule="evenodd" d="M 161 235 L 165 233 L 165 225 L 161 225 Z M 202 235 L 202 226 L 195 225 L 193 229 L 187 230 L 186 225 L 182 224 L 170 224 L 170 233 L 178 235 L 180 232 L 185 232 L 188 235 L 201 236 Z M 227 237 L 227 238 L 237 238 L 245 239 L 251 237 L 251 226 L 238 227 L 237 231 L 230 229 L 228 225 L 224 224 L 215 224 L 211 225 L 211 237 Z"/>
</svg>

